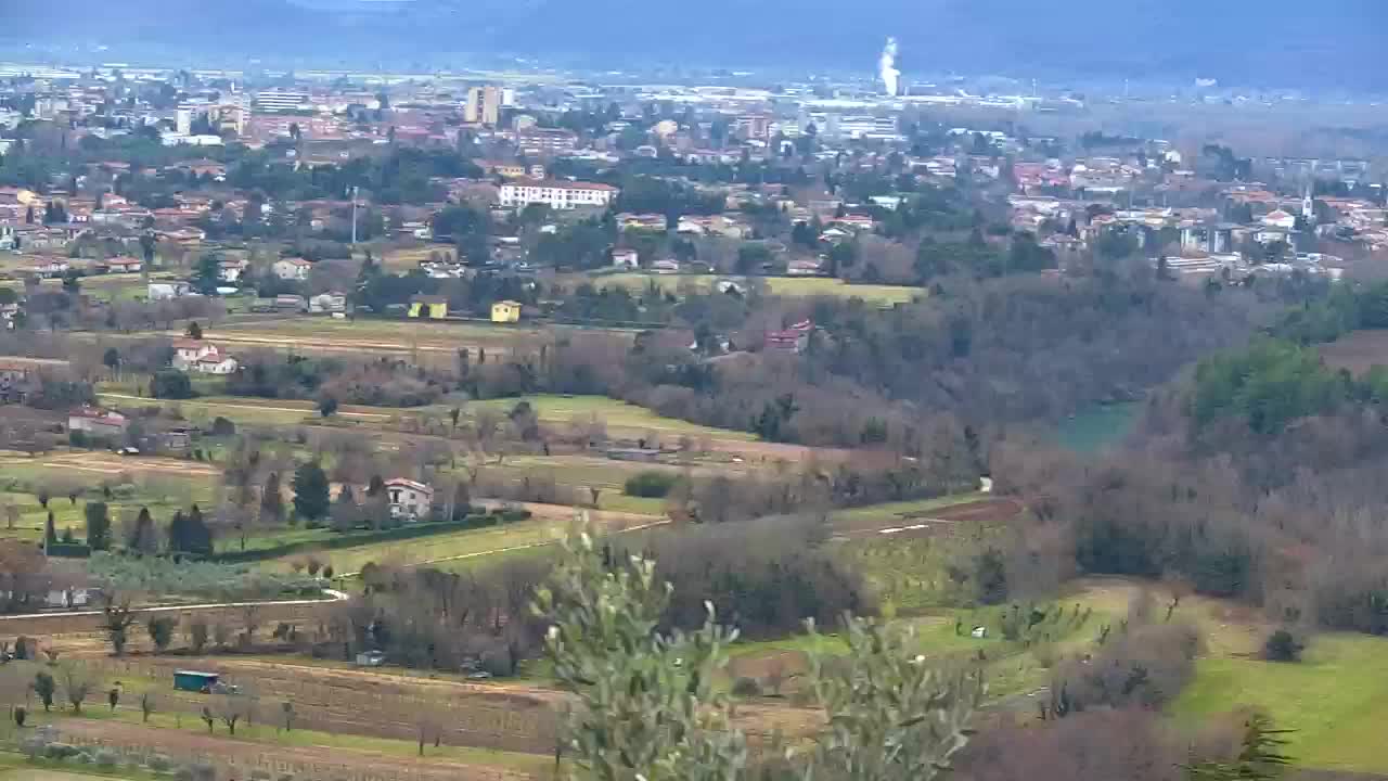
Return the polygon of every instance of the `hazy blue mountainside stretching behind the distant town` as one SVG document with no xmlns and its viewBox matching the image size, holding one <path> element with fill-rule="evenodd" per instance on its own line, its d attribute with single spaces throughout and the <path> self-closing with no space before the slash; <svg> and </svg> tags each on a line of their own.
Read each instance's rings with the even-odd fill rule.
<svg viewBox="0 0 1388 781">
<path fill-rule="evenodd" d="M 447 65 L 468 53 L 866 74 L 895 35 L 908 79 L 1208 76 L 1388 90 L 1381 0 L 68 0 L 4 17 L 0 46 L 100 43 L 125 57 Z"/>
</svg>

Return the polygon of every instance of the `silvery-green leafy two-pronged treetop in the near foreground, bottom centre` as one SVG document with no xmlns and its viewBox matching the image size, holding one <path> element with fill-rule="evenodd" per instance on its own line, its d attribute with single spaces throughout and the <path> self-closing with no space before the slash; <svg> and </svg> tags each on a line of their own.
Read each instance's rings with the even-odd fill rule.
<svg viewBox="0 0 1388 781">
<path fill-rule="evenodd" d="M 848 656 L 813 660 L 827 727 L 784 762 L 752 767 L 745 737 L 730 727 L 730 702 L 713 689 L 736 630 L 708 606 L 700 630 L 662 634 L 672 589 L 655 581 L 654 561 L 609 564 L 587 534 L 564 550 L 536 611 L 552 621 L 554 675 L 577 696 L 566 723 L 575 778 L 929 781 L 967 741 L 980 682 L 909 655 L 904 632 L 849 617 Z"/>
</svg>

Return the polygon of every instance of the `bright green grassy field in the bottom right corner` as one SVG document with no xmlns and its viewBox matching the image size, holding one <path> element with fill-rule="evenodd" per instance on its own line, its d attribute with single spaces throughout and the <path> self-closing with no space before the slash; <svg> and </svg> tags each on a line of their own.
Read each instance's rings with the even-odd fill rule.
<svg viewBox="0 0 1388 781">
<path fill-rule="evenodd" d="M 1267 713 L 1287 735 L 1299 766 L 1388 773 L 1378 734 L 1388 723 L 1388 641 L 1367 635 L 1320 635 L 1299 663 L 1213 656 L 1176 702 L 1183 718 L 1242 707 Z"/>
</svg>

